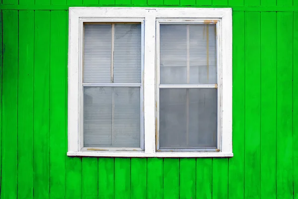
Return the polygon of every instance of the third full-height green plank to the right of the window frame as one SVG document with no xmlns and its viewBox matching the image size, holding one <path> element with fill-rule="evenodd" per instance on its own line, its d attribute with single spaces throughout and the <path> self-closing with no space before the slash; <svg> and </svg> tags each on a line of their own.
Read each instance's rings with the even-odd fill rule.
<svg viewBox="0 0 298 199">
<path fill-rule="evenodd" d="M 276 198 L 276 12 L 261 12 L 261 198 Z"/>
</svg>

